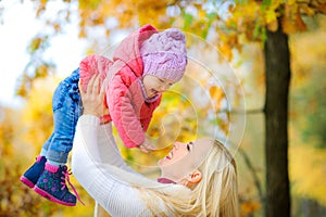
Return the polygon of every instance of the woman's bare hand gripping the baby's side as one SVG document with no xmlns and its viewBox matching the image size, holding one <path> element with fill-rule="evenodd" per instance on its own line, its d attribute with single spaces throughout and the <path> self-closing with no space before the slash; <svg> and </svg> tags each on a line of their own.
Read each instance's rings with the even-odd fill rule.
<svg viewBox="0 0 326 217">
<path fill-rule="evenodd" d="M 96 115 L 98 117 L 108 114 L 108 108 L 104 106 L 104 85 L 100 88 L 100 76 L 93 75 L 87 85 L 87 90 L 84 92 L 79 80 L 78 88 L 83 102 L 84 115 Z"/>
</svg>

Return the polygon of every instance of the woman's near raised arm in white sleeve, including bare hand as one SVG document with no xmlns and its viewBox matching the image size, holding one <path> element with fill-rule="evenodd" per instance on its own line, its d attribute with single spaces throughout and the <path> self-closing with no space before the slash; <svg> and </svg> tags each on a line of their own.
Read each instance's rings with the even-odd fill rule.
<svg viewBox="0 0 326 217">
<path fill-rule="evenodd" d="M 79 92 L 84 105 L 84 115 L 77 122 L 72 151 L 72 169 L 84 189 L 112 216 L 138 216 L 146 209 L 137 189 L 121 181 L 117 174 L 127 173 L 116 166 L 102 162 L 103 153 L 99 149 L 100 119 L 104 112 L 102 99 L 104 89 L 99 88 L 99 76 L 93 76 L 87 92 Z M 115 154 L 116 156 L 116 154 Z"/>
</svg>

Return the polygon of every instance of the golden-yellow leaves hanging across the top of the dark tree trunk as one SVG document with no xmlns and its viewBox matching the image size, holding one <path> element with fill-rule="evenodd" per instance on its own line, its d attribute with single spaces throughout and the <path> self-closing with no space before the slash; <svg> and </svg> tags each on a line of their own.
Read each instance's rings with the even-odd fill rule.
<svg viewBox="0 0 326 217">
<path fill-rule="evenodd" d="M 326 7 L 322 1 L 237 1 L 231 8 L 231 16 L 225 23 L 227 27 L 234 28 L 238 35 L 244 34 L 249 41 L 266 40 L 265 27 L 275 31 L 281 28 L 286 34 L 293 34 L 306 30 L 303 15 L 312 16 L 322 12 Z M 225 40 L 226 43 L 227 40 Z"/>
</svg>

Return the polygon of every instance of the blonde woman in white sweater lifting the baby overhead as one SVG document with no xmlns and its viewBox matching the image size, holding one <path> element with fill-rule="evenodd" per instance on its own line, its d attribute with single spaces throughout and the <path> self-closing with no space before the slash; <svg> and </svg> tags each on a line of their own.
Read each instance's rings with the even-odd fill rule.
<svg viewBox="0 0 326 217">
<path fill-rule="evenodd" d="M 236 163 L 211 139 L 175 142 L 159 161 L 161 177 L 148 179 L 126 165 L 111 124 L 101 124 L 103 90 L 93 77 L 80 92 L 72 168 L 85 190 L 111 216 L 238 216 Z M 80 90 L 80 88 L 79 88 Z"/>
</svg>

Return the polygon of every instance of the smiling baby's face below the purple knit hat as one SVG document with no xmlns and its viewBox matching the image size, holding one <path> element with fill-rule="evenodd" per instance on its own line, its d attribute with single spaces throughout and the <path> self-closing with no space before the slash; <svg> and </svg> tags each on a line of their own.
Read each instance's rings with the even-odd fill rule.
<svg viewBox="0 0 326 217">
<path fill-rule="evenodd" d="M 173 80 L 160 78 L 154 75 L 146 75 L 142 78 L 142 84 L 148 98 L 152 98 L 158 93 L 165 92 L 174 85 Z"/>
</svg>

